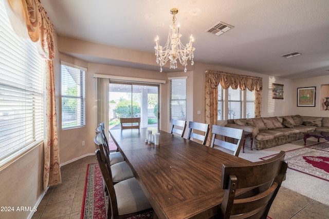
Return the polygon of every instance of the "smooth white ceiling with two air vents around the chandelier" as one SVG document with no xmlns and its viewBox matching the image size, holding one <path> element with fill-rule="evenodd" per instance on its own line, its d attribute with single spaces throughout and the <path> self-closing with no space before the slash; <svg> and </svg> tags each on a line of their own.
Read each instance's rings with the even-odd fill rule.
<svg viewBox="0 0 329 219">
<path fill-rule="evenodd" d="M 176 7 L 182 43 L 188 43 L 190 34 L 195 38 L 194 62 L 291 79 L 329 74 L 328 0 L 41 0 L 41 3 L 60 36 L 153 54 L 156 35 L 160 45 L 166 43 L 172 23 L 169 11 Z M 220 36 L 206 32 L 218 22 L 234 28 Z M 281 57 L 295 51 L 302 55 Z M 134 67 L 113 59 L 71 55 L 87 62 Z"/>
</svg>

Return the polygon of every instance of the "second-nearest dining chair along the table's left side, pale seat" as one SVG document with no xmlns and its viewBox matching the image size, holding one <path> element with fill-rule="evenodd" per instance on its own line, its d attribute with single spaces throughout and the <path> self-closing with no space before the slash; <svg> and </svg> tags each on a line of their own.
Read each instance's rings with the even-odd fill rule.
<svg viewBox="0 0 329 219">
<path fill-rule="evenodd" d="M 108 171 L 111 170 L 112 176 L 113 176 L 113 182 L 118 183 L 123 180 L 126 180 L 127 178 L 134 177 L 134 173 L 129 167 L 129 165 L 123 161 L 116 164 L 111 165 L 111 160 L 109 158 L 108 150 L 106 149 L 106 146 L 104 145 L 102 133 L 98 133 L 95 136 L 95 144 L 97 145 L 97 149 L 100 150 L 102 160 L 106 162 L 106 166 L 108 168 Z M 120 153 L 120 152 L 119 152 Z"/>
</svg>

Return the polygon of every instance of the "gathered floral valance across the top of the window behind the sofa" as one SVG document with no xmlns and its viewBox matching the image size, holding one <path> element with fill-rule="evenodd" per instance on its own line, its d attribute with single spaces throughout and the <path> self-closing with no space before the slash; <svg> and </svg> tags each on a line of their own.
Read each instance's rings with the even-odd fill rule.
<svg viewBox="0 0 329 219">
<path fill-rule="evenodd" d="M 224 89 L 230 86 L 232 89 L 240 88 L 241 90 L 263 90 L 263 79 L 261 77 L 232 74 L 222 71 L 207 70 L 206 77 L 208 77 L 211 88 L 217 88 L 219 84 Z"/>
</svg>

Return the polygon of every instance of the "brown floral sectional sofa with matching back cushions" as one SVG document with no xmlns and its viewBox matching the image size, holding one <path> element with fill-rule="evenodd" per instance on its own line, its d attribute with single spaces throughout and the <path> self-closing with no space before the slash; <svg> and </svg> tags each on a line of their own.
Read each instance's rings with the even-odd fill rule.
<svg viewBox="0 0 329 219">
<path fill-rule="evenodd" d="M 329 132 L 329 117 L 301 115 L 259 117 L 228 120 L 226 126 L 252 132 L 252 147 L 262 150 L 301 140 L 306 132 Z M 248 143 L 249 141 L 246 141 L 246 145 Z"/>
</svg>

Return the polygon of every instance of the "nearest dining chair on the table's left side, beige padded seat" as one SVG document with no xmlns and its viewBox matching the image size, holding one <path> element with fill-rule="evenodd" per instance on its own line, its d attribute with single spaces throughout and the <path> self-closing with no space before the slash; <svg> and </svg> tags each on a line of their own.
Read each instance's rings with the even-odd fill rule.
<svg viewBox="0 0 329 219">
<path fill-rule="evenodd" d="M 152 210 L 135 177 L 114 184 L 113 172 L 106 167 L 99 149 L 96 156 L 108 191 L 107 218 L 123 219 Z"/>
</svg>

